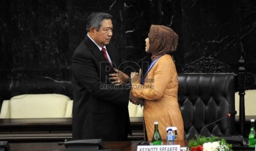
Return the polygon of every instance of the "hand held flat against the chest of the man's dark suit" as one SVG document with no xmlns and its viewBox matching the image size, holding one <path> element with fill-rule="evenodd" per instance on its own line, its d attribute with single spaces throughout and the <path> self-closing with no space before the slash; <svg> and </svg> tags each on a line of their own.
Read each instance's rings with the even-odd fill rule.
<svg viewBox="0 0 256 151">
<path fill-rule="evenodd" d="M 116 68 L 113 68 L 115 73 L 110 74 L 110 80 L 112 84 L 121 85 L 129 82 L 129 76 Z"/>
</svg>

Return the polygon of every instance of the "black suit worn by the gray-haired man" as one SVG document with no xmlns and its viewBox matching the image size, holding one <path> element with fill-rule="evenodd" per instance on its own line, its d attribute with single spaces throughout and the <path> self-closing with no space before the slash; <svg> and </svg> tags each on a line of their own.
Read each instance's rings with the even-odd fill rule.
<svg viewBox="0 0 256 151">
<path fill-rule="evenodd" d="M 112 43 L 106 45 L 111 61 L 121 63 Z M 105 62 L 105 63 L 102 63 Z M 73 139 L 101 138 L 104 141 L 126 140 L 130 131 L 129 90 L 113 89 L 104 55 L 86 36 L 72 57 L 73 75 Z M 107 88 L 107 89 L 106 89 Z"/>
</svg>

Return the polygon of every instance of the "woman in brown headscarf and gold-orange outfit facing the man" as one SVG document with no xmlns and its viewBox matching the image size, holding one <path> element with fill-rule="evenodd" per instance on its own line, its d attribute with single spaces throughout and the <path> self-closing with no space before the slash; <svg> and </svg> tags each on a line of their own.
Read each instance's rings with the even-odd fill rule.
<svg viewBox="0 0 256 151">
<path fill-rule="evenodd" d="M 154 121 L 159 122 L 162 140 L 166 140 L 166 127 L 176 126 L 176 140 L 184 139 L 184 126 L 177 100 L 178 77 L 170 53 L 175 51 L 178 35 L 169 27 L 151 25 L 149 37 L 145 39 L 146 52 L 151 53 L 152 63 L 148 72 L 140 78 L 134 72 L 132 77 L 131 102 L 138 104 L 135 97 L 143 98 L 143 114 L 148 140 L 152 140 Z"/>
</svg>

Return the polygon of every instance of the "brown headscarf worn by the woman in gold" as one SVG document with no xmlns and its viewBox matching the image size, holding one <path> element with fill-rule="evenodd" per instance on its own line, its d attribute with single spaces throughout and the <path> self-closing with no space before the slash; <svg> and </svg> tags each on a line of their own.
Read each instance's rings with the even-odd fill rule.
<svg viewBox="0 0 256 151">
<path fill-rule="evenodd" d="M 149 53 L 151 60 L 161 55 L 175 51 L 178 45 L 178 35 L 169 27 L 151 25 L 149 30 Z"/>
</svg>

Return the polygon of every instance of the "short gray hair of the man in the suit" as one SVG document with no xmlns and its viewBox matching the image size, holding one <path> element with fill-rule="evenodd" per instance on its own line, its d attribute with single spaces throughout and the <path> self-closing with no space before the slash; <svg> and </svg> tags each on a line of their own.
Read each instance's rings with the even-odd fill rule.
<svg viewBox="0 0 256 151">
<path fill-rule="evenodd" d="M 96 31 L 99 31 L 102 20 L 112 18 L 113 16 L 107 13 L 91 13 L 87 18 L 86 31 L 89 32 L 90 27 L 94 27 Z"/>
</svg>

